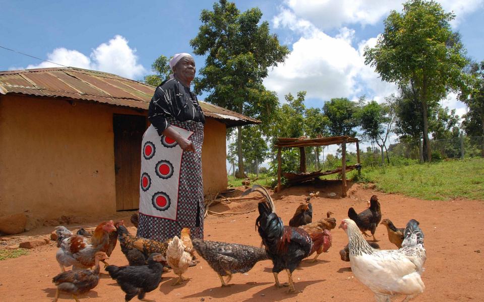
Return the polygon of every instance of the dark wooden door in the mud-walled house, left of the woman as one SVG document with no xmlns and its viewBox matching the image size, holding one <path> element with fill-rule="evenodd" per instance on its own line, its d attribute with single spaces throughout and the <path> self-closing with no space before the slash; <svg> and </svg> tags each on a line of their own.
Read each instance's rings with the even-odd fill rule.
<svg viewBox="0 0 484 302">
<path fill-rule="evenodd" d="M 141 142 L 146 117 L 114 114 L 114 174 L 116 210 L 133 210 L 140 203 Z"/>
</svg>

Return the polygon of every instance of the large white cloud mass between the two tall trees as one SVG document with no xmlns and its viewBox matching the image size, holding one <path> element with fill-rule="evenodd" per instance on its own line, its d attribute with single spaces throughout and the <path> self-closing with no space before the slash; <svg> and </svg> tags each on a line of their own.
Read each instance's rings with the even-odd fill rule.
<svg viewBox="0 0 484 302">
<path fill-rule="evenodd" d="M 322 106 L 331 98 L 356 99 L 363 94 L 381 102 L 396 92 L 394 84 L 382 82 L 374 68 L 365 65 L 364 46 L 374 46 L 376 38 L 360 42 L 356 49 L 352 29 L 343 27 L 331 37 L 289 11 L 284 14 L 284 18 L 274 18 L 274 23 L 301 37 L 292 44 L 284 63 L 272 69 L 264 81 L 280 99 L 289 92 L 305 90 L 308 98 L 320 99 Z"/>
</svg>

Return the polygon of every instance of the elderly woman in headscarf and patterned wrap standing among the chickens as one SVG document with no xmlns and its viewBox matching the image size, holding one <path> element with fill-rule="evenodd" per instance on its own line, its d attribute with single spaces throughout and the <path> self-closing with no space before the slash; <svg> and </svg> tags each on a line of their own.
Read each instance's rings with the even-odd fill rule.
<svg viewBox="0 0 484 302">
<path fill-rule="evenodd" d="M 151 126 L 143 136 L 140 216 L 137 236 L 164 241 L 190 228 L 203 239 L 203 116 L 190 91 L 195 61 L 178 53 L 173 74 L 156 88 L 148 109 Z"/>
</svg>

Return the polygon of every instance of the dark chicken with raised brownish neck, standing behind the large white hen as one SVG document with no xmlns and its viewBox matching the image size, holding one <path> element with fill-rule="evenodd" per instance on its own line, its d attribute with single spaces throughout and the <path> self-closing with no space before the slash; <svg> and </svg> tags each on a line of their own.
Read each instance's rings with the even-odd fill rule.
<svg viewBox="0 0 484 302">
<path fill-rule="evenodd" d="M 373 195 L 370 199 L 370 207 L 359 214 L 350 207 L 348 209 L 348 217 L 356 222 L 358 229 L 366 237 L 370 237 L 365 231 L 370 231 L 373 235 L 373 241 L 377 241 L 375 238 L 375 231 L 377 230 L 378 223 L 382 220 L 382 211 L 380 209 L 380 202 L 377 195 Z"/>
</svg>

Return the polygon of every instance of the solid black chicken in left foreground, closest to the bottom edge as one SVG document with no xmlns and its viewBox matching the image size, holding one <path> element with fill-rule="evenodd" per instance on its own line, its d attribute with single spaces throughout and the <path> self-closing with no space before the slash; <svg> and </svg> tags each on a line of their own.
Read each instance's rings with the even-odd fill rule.
<svg viewBox="0 0 484 302">
<path fill-rule="evenodd" d="M 119 267 L 108 265 L 106 271 L 126 292 L 126 301 L 131 300 L 136 295 L 141 300 L 144 299 L 147 292 L 158 287 L 165 264 L 166 259 L 163 255 L 153 253 L 148 258 L 148 265 Z"/>
</svg>

